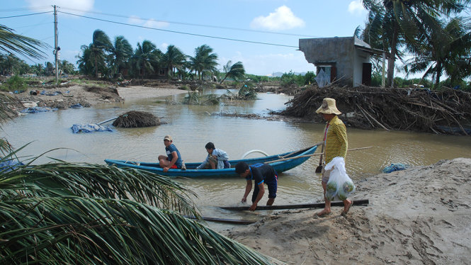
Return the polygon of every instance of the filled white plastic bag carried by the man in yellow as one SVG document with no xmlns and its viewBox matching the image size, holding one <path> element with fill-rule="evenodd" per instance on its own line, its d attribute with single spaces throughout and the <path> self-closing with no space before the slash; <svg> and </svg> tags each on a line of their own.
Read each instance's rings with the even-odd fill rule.
<svg viewBox="0 0 471 265">
<path fill-rule="evenodd" d="M 325 166 L 325 170 L 330 170 L 329 181 L 327 182 L 326 198 L 334 201 L 339 198 L 340 201 L 346 200 L 351 193 L 355 192 L 355 184 L 347 175 L 345 170 L 344 157 L 334 157 L 329 164 Z"/>
</svg>

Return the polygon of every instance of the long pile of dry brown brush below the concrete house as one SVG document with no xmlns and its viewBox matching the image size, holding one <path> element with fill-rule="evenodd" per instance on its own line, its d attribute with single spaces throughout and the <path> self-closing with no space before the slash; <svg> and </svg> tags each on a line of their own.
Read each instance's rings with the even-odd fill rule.
<svg viewBox="0 0 471 265">
<path fill-rule="evenodd" d="M 313 86 L 288 101 L 280 114 L 322 122 L 315 111 L 327 97 L 335 98 L 341 120 L 353 128 L 471 135 L 471 94 L 448 88 Z"/>
</svg>

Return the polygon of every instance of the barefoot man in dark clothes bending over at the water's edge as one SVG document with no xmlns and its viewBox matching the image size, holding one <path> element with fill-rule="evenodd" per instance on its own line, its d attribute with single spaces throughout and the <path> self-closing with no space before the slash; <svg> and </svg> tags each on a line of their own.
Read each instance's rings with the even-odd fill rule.
<svg viewBox="0 0 471 265">
<path fill-rule="evenodd" d="M 236 173 L 243 177 L 247 181 L 245 187 L 244 197 L 242 197 L 242 203 L 247 201 L 247 196 L 252 189 L 252 179 L 255 182 L 254 193 L 252 193 L 252 205 L 249 210 L 255 210 L 257 203 L 263 197 L 265 193 L 265 186 L 268 186 L 268 201 L 266 205 L 273 205 L 276 198 L 276 189 L 278 188 L 278 176 L 275 169 L 269 164 L 252 164 L 249 166 L 246 162 L 239 162 L 235 167 Z"/>
</svg>

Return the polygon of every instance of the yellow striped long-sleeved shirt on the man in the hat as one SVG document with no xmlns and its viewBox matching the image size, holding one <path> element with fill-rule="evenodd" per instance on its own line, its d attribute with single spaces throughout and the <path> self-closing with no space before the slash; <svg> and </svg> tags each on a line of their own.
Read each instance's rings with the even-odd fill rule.
<svg viewBox="0 0 471 265">
<path fill-rule="evenodd" d="M 327 133 L 326 133 L 327 130 Z M 334 157 L 346 157 L 348 148 L 347 130 L 339 117 L 334 116 L 326 124 L 324 129 L 325 162 L 331 162 Z"/>
</svg>

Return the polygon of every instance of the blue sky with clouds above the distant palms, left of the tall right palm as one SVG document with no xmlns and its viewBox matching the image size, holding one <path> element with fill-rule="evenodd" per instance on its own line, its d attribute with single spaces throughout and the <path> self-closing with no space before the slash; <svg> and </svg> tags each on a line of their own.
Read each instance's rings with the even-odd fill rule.
<svg viewBox="0 0 471 265">
<path fill-rule="evenodd" d="M 315 71 L 299 39 L 352 36 L 367 19 L 361 0 L 3 0 L 1 25 L 50 45 L 46 59 L 28 64 L 54 62 L 54 5 L 60 60 L 75 64 L 100 29 L 112 41 L 123 35 L 133 49 L 150 40 L 162 52 L 175 45 L 194 56 L 209 45 L 220 70 L 240 61 L 257 75 Z"/>
</svg>

